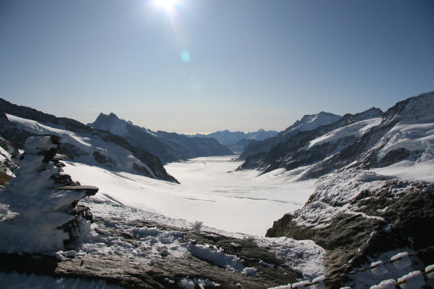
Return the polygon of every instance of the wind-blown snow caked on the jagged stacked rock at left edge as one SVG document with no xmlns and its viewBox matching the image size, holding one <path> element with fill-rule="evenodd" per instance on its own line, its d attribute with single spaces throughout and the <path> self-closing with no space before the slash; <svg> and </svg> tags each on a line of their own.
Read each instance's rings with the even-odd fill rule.
<svg viewBox="0 0 434 289">
<path fill-rule="evenodd" d="M 26 142 L 28 148 L 15 171 L 17 178 L 10 181 L 0 192 L 0 252 L 43 252 L 63 248 L 68 233 L 56 227 L 74 216 L 61 213 L 59 209 L 85 195 L 84 191 L 53 188 L 51 175 L 59 171 L 53 162 L 44 164 L 41 150 L 56 147 L 50 136 L 32 137 Z M 58 185 L 59 186 L 59 185 Z"/>
</svg>

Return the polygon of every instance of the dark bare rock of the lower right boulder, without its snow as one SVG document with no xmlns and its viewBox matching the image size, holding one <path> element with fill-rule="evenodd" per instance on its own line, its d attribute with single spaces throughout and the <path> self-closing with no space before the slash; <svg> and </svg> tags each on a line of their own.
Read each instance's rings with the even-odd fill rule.
<svg viewBox="0 0 434 289">
<path fill-rule="evenodd" d="M 396 190 L 399 190 L 397 193 Z M 347 203 L 320 200 L 314 193 L 300 211 L 274 222 L 267 237 L 312 239 L 327 250 L 324 275 L 335 278 L 328 288 L 340 288 L 346 275 L 361 264 L 371 262 L 369 256 L 398 248 L 422 250 L 434 245 L 434 184 L 428 182 L 384 181 L 375 189 L 360 191 Z M 331 206 L 351 209 L 321 220 L 311 226 L 301 225 L 303 211 Z M 426 265 L 434 263 L 434 251 L 418 255 Z M 398 276 L 400 277 L 400 276 Z"/>
</svg>

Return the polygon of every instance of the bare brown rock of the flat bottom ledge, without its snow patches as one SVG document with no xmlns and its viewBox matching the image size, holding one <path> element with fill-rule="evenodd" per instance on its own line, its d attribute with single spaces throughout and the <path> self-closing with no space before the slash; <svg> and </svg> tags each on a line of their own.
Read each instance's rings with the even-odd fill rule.
<svg viewBox="0 0 434 289">
<path fill-rule="evenodd" d="M 98 221 L 96 221 L 98 222 Z M 173 230 L 173 227 L 156 223 L 137 222 L 138 227 Z M 176 230 L 179 230 L 176 228 Z M 119 242 L 136 242 L 134 235 L 110 231 L 120 238 Z M 90 280 L 104 280 L 125 288 L 179 288 L 177 282 L 183 277 L 207 279 L 220 284 L 221 288 L 269 288 L 282 283 L 293 283 L 300 275 L 285 268 L 284 261 L 278 259 L 264 248 L 259 248 L 249 239 L 236 239 L 215 233 L 183 231 L 183 242 L 211 244 L 237 255 L 245 260 L 245 266 L 255 267 L 256 277 L 241 272 L 220 268 L 210 261 L 193 255 L 174 257 L 165 255 L 154 258 L 152 262 L 134 261 L 121 255 L 80 255 L 70 259 L 49 257 L 47 255 L 0 254 L 3 260 L 0 270 L 11 272 L 35 273 L 53 277 L 80 277 Z M 167 249 L 166 249 L 167 250 Z M 265 263 L 260 261 L 265 261 Z M 172 280 L 172 283 L 169 281 Z M 238 286 L 237 286 L 238 283 Z"/>
</svg>

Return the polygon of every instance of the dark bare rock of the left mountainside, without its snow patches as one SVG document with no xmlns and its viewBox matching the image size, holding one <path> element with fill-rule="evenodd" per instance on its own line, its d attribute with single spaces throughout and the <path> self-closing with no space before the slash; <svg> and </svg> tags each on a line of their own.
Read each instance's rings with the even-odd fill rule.
<svg viewBox="0 0 434 289">
<path fill-rule="evenodd" d="M 34 133 L 17 129 L 17 126 L 14 125 L 13 122 L 10 122 L 10 120 L 6 118 L 5 114 L 11 114 L 21 118 L 27 118 L 48 124 L 61 125 L 62 127 L 65 127 L 65 129 L 74 133 L 87 133 L 90 136 L 101 138 L 101 140 L 104 142 L 112 142 L 113 144 L 117 144 L 118 146 L 131 151 L 138 160 L 146 164 L 147 167 L 152 170 L 156 178 L 169 182 L 178 182 L 174 177 L 172 177 L 172 175 L 169 175 L 166 172 L 161 160 L 158 157 L 152 153 L 149 153 L 148 151 L 134 147 L 132 144 L 130 144 L 130 142 L 124 138 L 121 138 L 120 136 L 116 136 L 115 134 L 102 129 L 93 129 L 92 127 L 83 125 L 81 122 L 72 120 L 70 118 L 57 118 L 56 116 L 45 114 L 30 107 L 14 105 L 0 98 L 0 135 L 6 140 L 10 141 L 16 147 L 23 148 L 25 140 L 34 135 Z M 85 156 L 83 151 L 81 151 L 78 147 L 74 147 L 72 144 L 62 144 L 59 149 L 59 153 L 68 155 L 70 158 Z M 99 160 L 102 159 L 99 158 Z M 138 169 L 137 173 L 152 177 L 147 169 L 140 167 L 136 168 Z"/>
</svg>

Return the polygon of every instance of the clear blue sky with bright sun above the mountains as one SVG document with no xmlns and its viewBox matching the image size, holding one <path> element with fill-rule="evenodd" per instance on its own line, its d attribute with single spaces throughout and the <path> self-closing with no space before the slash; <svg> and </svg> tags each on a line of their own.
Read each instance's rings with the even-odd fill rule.
<svg viewBox="0 0 434 289">
<path fill-rule="evenodd" d="M 0 0 L 0 97 L 207 133 L 434 90 L 431 0 L 159 1 Z"/>
</svg>

